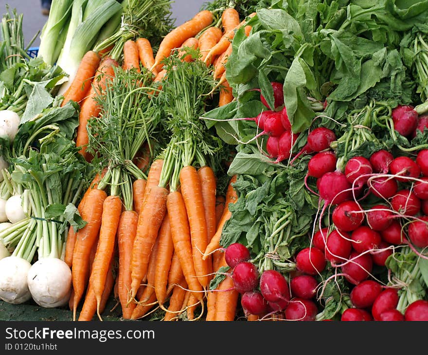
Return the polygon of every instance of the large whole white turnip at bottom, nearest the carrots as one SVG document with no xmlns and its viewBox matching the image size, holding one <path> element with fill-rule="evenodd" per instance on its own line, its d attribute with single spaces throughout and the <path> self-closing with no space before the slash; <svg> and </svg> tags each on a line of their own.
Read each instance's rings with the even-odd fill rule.
<svg viewBox="0 0 428 355">
<path fill-rule="evenodd" d="M 42 307 L 66 304 L 71 294 L 71 269 L 61 259 L 46 257 L 31 266 L 27 276 L 33 300 Z"/>
</svg>

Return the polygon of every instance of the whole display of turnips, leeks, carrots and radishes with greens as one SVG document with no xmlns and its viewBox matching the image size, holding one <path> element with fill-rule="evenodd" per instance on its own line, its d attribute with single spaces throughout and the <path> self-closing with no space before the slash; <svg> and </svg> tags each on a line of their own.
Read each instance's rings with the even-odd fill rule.
<svg viewBox="0 0 428 355">
<path fill-rule="evenodd" d="M 53 0 L 30 57 L 7 7 L 0 299 L 77 321 L 428 320 L 427 18 L 214 0 L 174 26 L 169 0 Z"/>
</svg>

